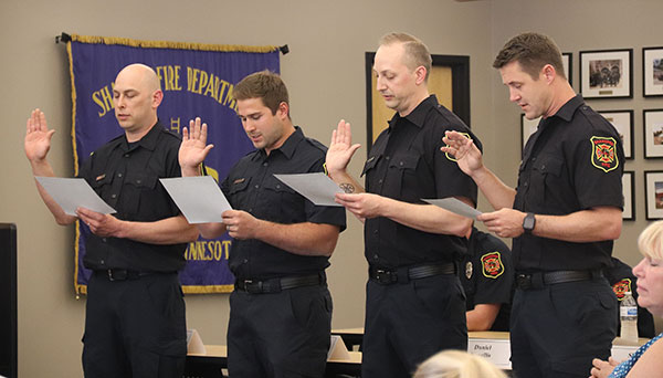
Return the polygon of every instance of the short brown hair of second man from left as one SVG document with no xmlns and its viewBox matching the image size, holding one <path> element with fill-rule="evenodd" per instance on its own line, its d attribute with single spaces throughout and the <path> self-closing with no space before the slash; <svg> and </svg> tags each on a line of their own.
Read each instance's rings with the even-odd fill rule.
<svg viewBox="0 0 663 378">
<path fill-rule="evenodd" d="M 260 71 L 242 78 L 232 91 L 234 99 L 262 98 L 263 104 L 272 111 L 278 111 L 281 103 L 288 104 L 287 88 L 278 74 Z M 290 105 L 290 104 L 288 104 Z"/>
</svg>

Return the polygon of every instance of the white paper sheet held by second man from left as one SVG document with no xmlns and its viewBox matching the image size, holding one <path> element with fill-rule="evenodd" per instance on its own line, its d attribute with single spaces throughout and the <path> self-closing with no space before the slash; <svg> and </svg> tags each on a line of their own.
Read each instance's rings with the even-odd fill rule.
<svg viewBox="0 0 663 378">
<path fill-rule="evenodd" d="M 221 213 L 232 210 L 211 176 L 159 179 L 189 223 L 223 221 Z"/>
</svg>

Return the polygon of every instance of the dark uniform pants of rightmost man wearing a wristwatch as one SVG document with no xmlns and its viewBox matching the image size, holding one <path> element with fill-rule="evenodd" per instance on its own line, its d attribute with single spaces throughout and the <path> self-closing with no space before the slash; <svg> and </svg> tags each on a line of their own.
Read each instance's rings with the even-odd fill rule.
<svg viewBox="0 0 663 378">
<path fill-rule="evenodd" d="M 517 290 L 511 317 L 516 377 L 587 378 L 610 356 L 617 297 L 606 279 Z"/>
</svg>

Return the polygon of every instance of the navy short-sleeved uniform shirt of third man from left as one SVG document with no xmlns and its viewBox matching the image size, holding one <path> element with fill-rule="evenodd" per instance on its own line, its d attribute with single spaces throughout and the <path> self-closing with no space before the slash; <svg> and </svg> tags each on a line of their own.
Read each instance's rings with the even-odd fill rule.
<svg viewBox="0 0 663 378">
<path fill-rule="evenodd" d="M 410 203 L 446 197 L 476 203 L 474 181 L 440 150 L 446 130 L 465 133 L 481 149 L 470 128 L 434 95 L 406 117 L 397 113 L 364 166 L 366 191 Z M 367 219 L 364 232 L 366 259 L 378 269 L 457 261 L 467 250 L 465 238 L 419 231 L 383 217 Z"/>
</svg>

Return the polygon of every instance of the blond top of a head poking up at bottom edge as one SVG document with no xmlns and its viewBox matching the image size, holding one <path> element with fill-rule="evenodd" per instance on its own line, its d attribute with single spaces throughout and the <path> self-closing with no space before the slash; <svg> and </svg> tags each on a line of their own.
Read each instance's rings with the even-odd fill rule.
<svg viewBox="0 0 663 378">
<path fill-rule="evenodd" d="M 413 378 L 506 378 L 506 374 L 482 357 L 444 350 L 423 361 Z"/>
</svg>

